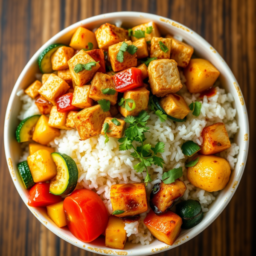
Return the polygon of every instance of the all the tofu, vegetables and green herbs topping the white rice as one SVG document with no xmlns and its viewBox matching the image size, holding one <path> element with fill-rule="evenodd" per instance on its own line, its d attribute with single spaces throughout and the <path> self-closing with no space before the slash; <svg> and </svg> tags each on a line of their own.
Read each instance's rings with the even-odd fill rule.
<svg viewBox="0 0 256 256">
<path fill-rule="evenodd" d="M 105 233 L 107 247 L 123 249 L 125 223 L 148 210 L 145 186 L 152 181 L 148 169 L 165 166 L 161 157 L 165 144 L 145 143 L 145 134 L 150 133 L 148 107 L 160 122 L 184 122 L 189 113 L 200 116 L 201 102 L 188 106 L 178 94 L 182 87 L 178 67 L 183 68 L 190 93 L 201 93 L 201 99 L 216 93 L 212 85 L 219 71 L 207 60 L 191 59 L 192 54 L 193 47 L 172 35 L 160 37 L 154 22 L 128 30 L 106 23 L 95 33 L 79 27 L 70 46 L 53 44 L 45 49 L 38 59 L 42 81 L 25 90 L 36 99 L 41 116 L 24 119 L 16 131 L 17 142 L 35 142 L 29 144 L 27 161 L 18 164 L 24 186 L 30 189 L 29 206 L 47 207 L 52 221 L 58 227 L 67 225 L 81 241 Z M 99 134 L 105 136 L 105 144 L 109 137 L 118 139 L 119 150 L 130 151 L 137 160 L 134 170 L 146 173 L 144 183 L 111 186 L 112 216 L 95 192 L 79 189 L 74 160 L 47 147 L 60 129 L 76 129 L 81 140 Z M 201 146 L 187 141 L 181 147 L 191 157 L 185 165 L 188 179 L 206 191 L 221 190 L 229 180 L 230 166 L 213 154 L 230 147 L 225 125 L 205 127 L 201 136 Z M 181 228 L 192 228 L 203 218 L 198 201 L 181 201 L 176 213 L 169 210 L 186 191 L 179 179 L 183 169 L 165 170 L 151 191 L 151 210 L 144 220 L 153 236 L 170 245 Z"/>
</svg>

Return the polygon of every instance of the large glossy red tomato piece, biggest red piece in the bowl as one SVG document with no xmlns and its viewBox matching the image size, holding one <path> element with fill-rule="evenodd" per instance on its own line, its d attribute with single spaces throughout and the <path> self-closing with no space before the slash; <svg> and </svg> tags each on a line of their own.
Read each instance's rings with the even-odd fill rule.
<svg viewBox="0 0 256 256">
<path fill-rule="evenodd" d="M 101 235 L 108 224 L 105 204 L 90 189 L 77 189 L 64 199 L 64 212 L 70 232 L 83 242 Z"/>
</svg>

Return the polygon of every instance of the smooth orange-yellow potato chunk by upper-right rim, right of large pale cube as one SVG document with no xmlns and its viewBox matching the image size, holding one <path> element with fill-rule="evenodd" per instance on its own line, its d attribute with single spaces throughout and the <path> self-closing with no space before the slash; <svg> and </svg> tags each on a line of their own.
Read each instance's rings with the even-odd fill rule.
<svg viewBox="0 0 256 256">
<path fill-rule="evenodd" d="M 191 59 L 183 72 L 190 93 L 201 93 L 212 87 L 220 74 L 209 61 L 200 58 Z"/>
</svg>

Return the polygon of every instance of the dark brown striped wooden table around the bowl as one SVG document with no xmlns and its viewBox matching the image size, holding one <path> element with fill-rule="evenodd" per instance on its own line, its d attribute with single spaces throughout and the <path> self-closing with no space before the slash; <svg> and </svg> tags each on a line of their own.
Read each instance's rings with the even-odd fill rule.
<svg viewBox="0 0 256 256">
<path fill-rule="evenodd" d="M 106 12 L 140 11 L 177 20 L 198 32 L 223 56 L 244 94 L 250 118 L 249 157 L 239 188 L 204 232 L 160 255 L 253 255 L 256 144 L 255 0 L 0 0 L 1 134 L 9 95 L 23 67 L 49 38 L 78 20 Z M 1 136 L 0 255 L 91 256 L 44 227 L 20 199 L 6 164 Z"/>
</svg>

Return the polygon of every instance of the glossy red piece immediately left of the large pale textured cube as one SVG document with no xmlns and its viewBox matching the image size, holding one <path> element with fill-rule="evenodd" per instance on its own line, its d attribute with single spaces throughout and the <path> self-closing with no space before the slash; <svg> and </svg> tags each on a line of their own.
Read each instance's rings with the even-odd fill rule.
<svg viewBox="0 0 256 256">
<path fill-rule="evenodd" d="M 142 71 L 137 67 L 131 67 L 116 73 L 113 76 L 116 91 L 124 93 L 138 87 L 143 87 Z"/>
</svg>

